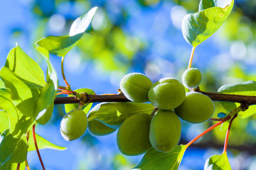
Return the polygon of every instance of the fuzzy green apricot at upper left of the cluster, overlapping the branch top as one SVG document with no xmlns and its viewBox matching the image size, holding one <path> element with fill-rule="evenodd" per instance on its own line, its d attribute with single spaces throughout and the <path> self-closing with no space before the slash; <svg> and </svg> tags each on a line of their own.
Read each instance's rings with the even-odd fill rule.
<svg viewBox="0 0 256 170">
<path fill-rule="evenodd" d="M 141 73 L 131 73 L 122 78 L 120 88 L 127 99 L 137 103 L 143 103 L 148 101 L 147 94 L 152 84 L 147 76 Z"/>
</svg>

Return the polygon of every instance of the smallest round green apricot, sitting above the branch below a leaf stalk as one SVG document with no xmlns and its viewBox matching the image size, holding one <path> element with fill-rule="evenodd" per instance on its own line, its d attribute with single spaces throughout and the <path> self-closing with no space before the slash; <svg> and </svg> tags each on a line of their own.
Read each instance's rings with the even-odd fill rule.
<svg viewBox="0 0 256 170">
<path fill-rule="evenodd" d="M 186 70 L 182 75 L 182 82 L 187 88 L 196 88 L 202 80 L 202 74 L 198 69 L 191 68 Z"/>
</svg>

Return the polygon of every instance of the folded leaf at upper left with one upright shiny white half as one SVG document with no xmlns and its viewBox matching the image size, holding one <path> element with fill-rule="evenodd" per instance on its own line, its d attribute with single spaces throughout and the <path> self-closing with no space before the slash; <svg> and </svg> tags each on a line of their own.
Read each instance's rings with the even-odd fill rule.
<svg viewBox="0 0 256 170">
<path fill-rule="evenodd" d="M 73 22 L 69 36 L 48 36 L 36 41 L 36 46 L 48 50 L 50 54 L 65 57 L 65 55 L 76 45 L 84 33 L 92 33 L 91 22 L 97 11 L 92 8 L 87 14 L 80 16 Z"/>
</svg>

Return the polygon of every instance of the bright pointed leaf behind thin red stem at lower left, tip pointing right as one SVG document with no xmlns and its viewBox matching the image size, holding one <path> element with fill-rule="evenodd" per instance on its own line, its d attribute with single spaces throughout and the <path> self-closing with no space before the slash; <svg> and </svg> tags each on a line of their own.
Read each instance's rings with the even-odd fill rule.
<svg viewBox="0 0 256 170">
<path fill-rule="evenodd" d="M 38 148 L 43 149 L 43 148 L 51 148 L 54 150 L 65 150 L 65 147 L 57 146 L 54 145 L 53 143 L 47 141 L 43 137 L 40 137 L 40 135 L 36 134 L 36 142 L 38 143 Z M 28 151 L 34 151 L 36 150 L 35 148 L 35 143 L 34 139 L 32 136 L 32 131 L 30 130 L 30 138 L 28 139 Z"/>
</svg>

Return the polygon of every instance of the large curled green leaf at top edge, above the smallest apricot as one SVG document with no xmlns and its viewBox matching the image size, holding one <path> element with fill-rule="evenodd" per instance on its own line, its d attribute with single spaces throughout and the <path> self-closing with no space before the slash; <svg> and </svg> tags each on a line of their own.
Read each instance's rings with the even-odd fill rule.
<svg viewBox="0 0 256 170">
<path fill-rule="evenodd" d="M 196 47 L 208 39 L 228 18 L 234 0 L 201 0 L 199 12 L 187 14 L 181 25 L 184 39 Z"/>
</svg>

